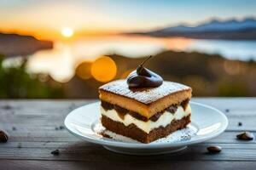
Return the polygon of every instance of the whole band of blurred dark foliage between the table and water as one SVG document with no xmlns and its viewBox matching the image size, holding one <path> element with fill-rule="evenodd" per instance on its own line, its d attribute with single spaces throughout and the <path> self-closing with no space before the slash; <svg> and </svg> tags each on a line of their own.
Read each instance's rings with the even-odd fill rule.
<svg viewBox="0 0 256 170">
<path fill-rule="evenodd" d="M 114 79 L 124 79 L 143 62 L 141 58 L 108 55 L 115 65 Z M 55 82 L 47 75 L 26 72 L 26 60 L 20 66 L 4 68 L 0 57 L 0 98 L 72 98 L 97 99 L 99 82 L 90 75 L 90 61 L 77 65 L 76 75 L 66 83 Z M 256 96 L 256 63 L 224 59 L 220 55 L 165 51 L 156 54 L 146 65 L 166 81 L 180 82 L 193 88 L 194 96 Z M 65 94 L 65 95 L 64 95 Z"/>
</svg>

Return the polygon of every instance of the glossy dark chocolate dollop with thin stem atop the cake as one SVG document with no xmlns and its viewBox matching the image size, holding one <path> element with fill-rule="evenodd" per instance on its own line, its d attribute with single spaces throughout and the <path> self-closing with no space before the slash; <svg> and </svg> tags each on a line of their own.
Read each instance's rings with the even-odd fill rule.
<svg viewBox="0 0 256 170">
<path fill-rule="evenodd" d="M 152 56 L 149 56 L 148 59 L 151 57 Z M 127 77 L 127 84 L 129 88 L 157 88 L 163 83 L 162 77 L 143 67 L 143 64 L 148 59 L 144 60 L 143 63 L 137 67 L 137 70 L 132 71 Z"/>
</svg>

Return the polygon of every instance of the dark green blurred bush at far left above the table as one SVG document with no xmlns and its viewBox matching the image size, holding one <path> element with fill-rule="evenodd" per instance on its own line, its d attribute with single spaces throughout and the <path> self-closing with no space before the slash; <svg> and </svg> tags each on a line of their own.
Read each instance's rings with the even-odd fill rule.
<svg viewBox="0 0 256 170">
<path fill-rule="evenodd" d="M 42 77 L 42 76 L 41 76 Z M 26 72 L 26 59 L 20 66 L 3 67 L 3 55 L 0 55 L 0 99 L 44 99 L 64 98 L 61 86 L 42 82 L 40 75 Z"/>
</svg>

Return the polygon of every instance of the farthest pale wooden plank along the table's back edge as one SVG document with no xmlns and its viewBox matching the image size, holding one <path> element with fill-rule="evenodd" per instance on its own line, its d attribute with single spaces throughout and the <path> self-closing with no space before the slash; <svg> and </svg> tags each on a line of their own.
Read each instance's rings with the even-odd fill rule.
<svg viewBox="0 0 256 170">
<path fill-rule="evenodd" d="M 49 111 L 73 110 L 80 105 L 86 105 L 96 100 L 0 100 L 0 111 L 20 111 L 21 113 L 34 113 L 40 111 L 49 114 Z M 220 111 L 230 111 L 228 115 L 254 115 L 256 98 L 195 98 L 195 102 L 212 105 Z M 6 109 L 8 108 L 8 109 Z"/>
</svg>

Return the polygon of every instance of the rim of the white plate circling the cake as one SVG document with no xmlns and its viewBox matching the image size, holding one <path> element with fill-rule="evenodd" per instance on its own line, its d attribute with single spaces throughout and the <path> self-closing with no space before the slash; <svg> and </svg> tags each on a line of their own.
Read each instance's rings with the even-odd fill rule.
<svg viewBox="0 0 256 170">
<path fill-rule="evenodd" d="M 104 140 L 104 139 L 91 139 L 88 136 L 83 136 L 79 133 L 75 133 L 73 132 L 72 129 L 70 129 L 67 125 L 67 119 L 68 116 L 70 116 L 73 112 L 80 110 L 82 107 L 88 106 L 88 105 L 96 105 L 97 103 L 100 103 L 100 101 L 96 101 L 87 105 L 82 105 L 79 108 L 76 108 L 73 111 L 70 111 L 64 121 L 64 125 L 67 129 L 67 131 L 71 134 L 73 134 L 74 136 L 78 137 L 79 139 L 83 139 L 84 141 L 93 143 L 93 144 L 101 144 L 101 145 L 106 145 L 106 146 L 113 146 L 113 147 L 120 147 L 120 148 L 137 148 L 137 149 L 149 149 L 149 148 L 166 148 L 166 147 L 179 147 L 179 146 L 184 146 L 184 145 L 190 145 L 190 144 L 199 144 L 201 142 L 204 142 L 208 139 L 213 139 L 215 137 L 217 137 L 219 134 L 223 133 L 224 130 L 228 127 L 229 125 L 229 120 L 227 118 L 227 116 L 225 116 L 225 114 L 222 111 L 219 111 L 218 109 L 210 106 L 210 105 L 205 105 L 205 104 L 201 104 L 198 102 L 194 102 L 194 101 L 190 101 L 190 104 L 193 105 L 200 105 L 202 107 L 206 107 L 208 109 L 211 109 L 213 111 L 218 112 L 218 114 L 224 119 L 224 123 L 222 123 L 222 126 L 219 127 L 218 131 L 215 133 L 212 133 L 212 135 L 207 135 L 207 136 L 201 136 L 200 139 L 190 139 L 190 140 L 183 140 L 183 141 L 177 141 L 175 143 L 149 143 L 149 144 L 143 144 L 143 143 L 125 143 L 125 142 L 121 142 L 121 141 L 111 141 L 111 140 Z"/>
</svg>

